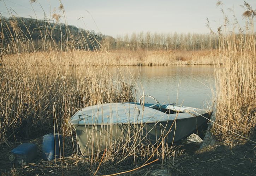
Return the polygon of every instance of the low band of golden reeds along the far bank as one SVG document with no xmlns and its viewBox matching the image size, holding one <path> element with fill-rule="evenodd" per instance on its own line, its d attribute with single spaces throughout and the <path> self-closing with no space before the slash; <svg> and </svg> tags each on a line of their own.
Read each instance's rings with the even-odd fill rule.
<svg viewBox="0 0 256 176">
<path fill-rule="evenodd" d="M 36 57 L 35 57 L 36 55 Z M 56 58 L 60 58 L 61 61 Z M 5 55 L 3 62 L 14 65 L 22 60 L 23 63 L 36 65 L 62 64 L 72 66 L 88 65 L 208 65 L 217 62 L 218 52 L 213 51 L 83 51 L 72 52 L 36 52 Z"/>
</svg>

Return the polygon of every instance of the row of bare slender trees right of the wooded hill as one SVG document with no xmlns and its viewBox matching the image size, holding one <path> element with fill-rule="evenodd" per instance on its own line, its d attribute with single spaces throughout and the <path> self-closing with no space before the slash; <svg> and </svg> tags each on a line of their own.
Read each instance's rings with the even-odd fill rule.
<svg viewBox="0 0 256 176">
<path fill-rule="evenodd" d="M 218 46 L 218 37 L 198 33 L 139 32 L 104 38 L 108 50 L 206 50 Z"/>
</svg>

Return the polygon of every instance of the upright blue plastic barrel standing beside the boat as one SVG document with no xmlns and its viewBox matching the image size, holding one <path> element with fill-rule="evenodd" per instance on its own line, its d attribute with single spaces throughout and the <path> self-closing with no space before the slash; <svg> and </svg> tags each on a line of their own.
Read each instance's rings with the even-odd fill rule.
<svg viewBox="0 0 256 176">
<path fill-rule="evenodd" d="M 60 158 L 62 153 L 62 136 L 58 133 L 50 133 L 43 136 L 42 158 L 50 161 Z"/>
</svg>

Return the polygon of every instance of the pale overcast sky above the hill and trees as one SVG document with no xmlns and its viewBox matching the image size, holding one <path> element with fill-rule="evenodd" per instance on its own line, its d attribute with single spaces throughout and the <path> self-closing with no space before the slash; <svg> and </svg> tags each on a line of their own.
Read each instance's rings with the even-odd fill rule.
<svg viewBox="0 0 256 176">
<path fill-rule="evenodd" d="M 223 24 L 224 15 L 230 23 L 233 15 L 240 26 L 245 26 L 242 17 L 243 0 L 223 0 L 216 6 L 216 0 L 61 0 L 65 13 L 59 10 L 59 0 L 0 0 L 0 13 L 4 17 L 52 20 L 53 13 L 61 15 L 61 22 L 87 30 L 94 30 L 117 37 L 133 32 L 158 33 L 209 33 L 207 18 L 213 31 Z M 246 0 L 256 9 L 255 0 Z M 54 12 L 55 11 L 55 12 Z M 255 21 L 254 21 L 255 22 Z"/>
</svg>

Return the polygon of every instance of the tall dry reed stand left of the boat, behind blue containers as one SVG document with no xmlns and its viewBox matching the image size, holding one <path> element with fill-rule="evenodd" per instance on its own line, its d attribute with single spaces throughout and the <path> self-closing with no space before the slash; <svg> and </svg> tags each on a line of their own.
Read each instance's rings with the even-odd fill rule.
<svg viewBox="0 0 256 176">
<path fill-rule="evenodd" d="M 65 14 L 61 2 L 60 10 Z M 58 14 L 53 17 L 57 21 L 60 18 Z M 123 78 L 113 81 L 108 64 L 100 61 L 102 55 L 99 52 L 103 53 L 104 49 L 95 52 L 76 50 L 77 43 L 71 40 L 69 30 L 61 32 L 59 43 L 47 40 L 52 38 L 49 35 L 53 30 L 47 28 L 48 31 L 40 31 L 45 40 L 42 40 L 43 50 L 38 52 L 34 40 L 28 37 L 31 33 L 28 30 L 25 35 L 16 18 L 10 21 L 12 28 L 3 28 L 4 23 L 6 21 L 1 18 L 1 31 L 7 35 L 1 33 L 0 144 L 10 145 L 9 141 L 17 137 L 32 138 L 53 132 L 54 114 L 62 127 L 67 125 L 67 113 L 74 114 L 79 108 L 133 101 L 131 82 Z M 81 36 L 79 41 L 87 44 L 88 38 Z M 81 60 L 76 59 L 82 55 L 86 69 L 75 67 L 80 65 L 77 62 Z M 75 67 L 72 74 L 70 69 L 74 67 L 70 65 Z"/>
</svg>

